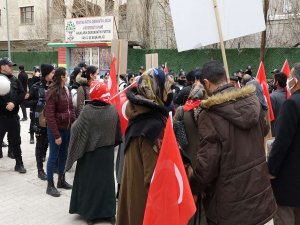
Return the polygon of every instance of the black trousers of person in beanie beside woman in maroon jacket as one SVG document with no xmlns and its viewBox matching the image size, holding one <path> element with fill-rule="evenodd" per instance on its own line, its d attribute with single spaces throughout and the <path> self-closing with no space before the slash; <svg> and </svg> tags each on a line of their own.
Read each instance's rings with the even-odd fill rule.
<svg viewBox="0 0 300 225">
<path fill-rule="evenodd" d="M 38 127 L 36 132 L 35 158 L 38 171 L 43 170 L 43 158 L 48 148 L 47 128 Z"/>
</svg>

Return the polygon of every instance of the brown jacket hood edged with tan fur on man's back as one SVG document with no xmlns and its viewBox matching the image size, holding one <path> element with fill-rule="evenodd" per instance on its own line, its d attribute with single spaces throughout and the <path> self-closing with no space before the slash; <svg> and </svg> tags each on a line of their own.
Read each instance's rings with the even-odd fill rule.
<svg viewBox="0 0 300 225">
<path fill-rule="evenodd" d="M 225 86 L 221 92 L 203 100 L 201 107 L 218 114 L 241 129 L 255 126 L 261 111 L 253 85 L 242 89 Z"/>
</svg>

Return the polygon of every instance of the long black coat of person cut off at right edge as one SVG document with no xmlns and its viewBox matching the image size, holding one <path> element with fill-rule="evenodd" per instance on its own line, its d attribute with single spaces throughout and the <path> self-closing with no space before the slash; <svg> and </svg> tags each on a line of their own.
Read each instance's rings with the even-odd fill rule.
<svg viewBox="0 0 300 225">
<path fill-rule="evenodd" d="M 283 104 L 268 160 L 277 204 L 300 207 L 300 90 Z"/>
</svg>

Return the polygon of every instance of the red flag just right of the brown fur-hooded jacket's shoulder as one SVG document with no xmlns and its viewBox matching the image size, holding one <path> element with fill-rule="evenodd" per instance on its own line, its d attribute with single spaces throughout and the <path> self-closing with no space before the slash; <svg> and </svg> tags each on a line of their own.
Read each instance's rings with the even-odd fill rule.
<svg viewBox="0 0 300 225">
<path fill-rule="evenodd" d="M 268 83 L 267 83 L 265 66 L 264 66 L 263 62 L 261 62 L 260 65 L 259 65 L 259 69 L 258 69 L 258 72 L 257 72 L 256 79 L 260 83 L 260 85 L 263 89 L 264 96 L 265 96 L 266 101 L 268 103 L 270 121 L 272 122 L 274 120 L 274 113 L 273 113 L 272 103 L 271 103 L 270 94 L 269 94 L 269 88 L 268 88 Z"/>
</svg>

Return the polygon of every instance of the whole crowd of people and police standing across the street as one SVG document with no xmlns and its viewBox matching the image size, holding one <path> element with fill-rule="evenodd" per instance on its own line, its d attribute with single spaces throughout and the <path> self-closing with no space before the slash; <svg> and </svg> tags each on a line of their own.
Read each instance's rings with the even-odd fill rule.
<svg viewBox="0 0 300 225">
<path fill-rule="evenodd" d="M 275 119 L 271 123 L 251 66 L 237 70 L 230 81 L 217 61 L 188 73 L 182 69 L 178 75 L 164 66 L 149 70 L 141 66 L 137 74 L 128 71 L 118 81 L 119 91 L 136 83 L 126 89 L 125 135 L 110 101 L 109 71 L 100 77 L 99 68 L 83 62 L 69 78 L 65 68 L 42 64 L 29 80 L 23 65 L 18 78 L 13 76 L 14 66 L 9 58 L 0 59 L 0 78 L 10 81 L 9 93 L 0 96 L 0 141 L 7 133 L 15 171 L 26 173 L 20 121 L 28 119 L 29 107 L 37 175 L 47 180 L 46 193 L 53 197 L 60 196 L 57 188 L 72 189 L 69 213 L 89 222 L 107 219 L 112 223 L 117 214 L 118 225 L 142 225 L 172 112 L 197 206 L 189 225 L 263 225 L 272 219 L 275 225 L 300 224 L 300 64 L 294 65 L 291 74 L 272 71 L 269 90 Z M 267 158 L 265 137 L 270 129 L 275 141 Z M 75 162 L 71 185 L 65 173 Z"/>
</svg>

